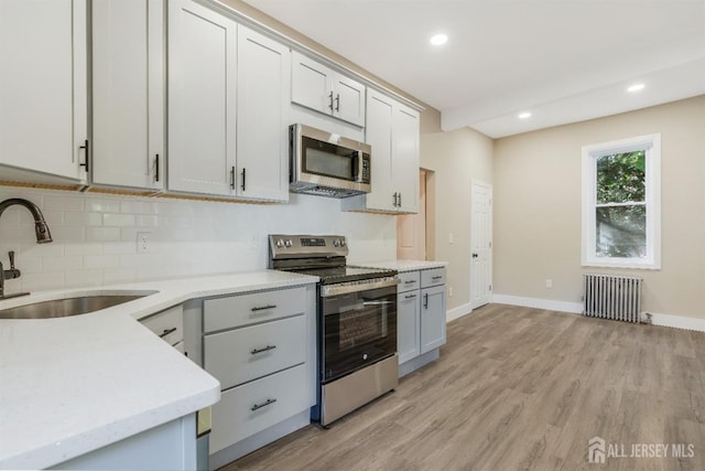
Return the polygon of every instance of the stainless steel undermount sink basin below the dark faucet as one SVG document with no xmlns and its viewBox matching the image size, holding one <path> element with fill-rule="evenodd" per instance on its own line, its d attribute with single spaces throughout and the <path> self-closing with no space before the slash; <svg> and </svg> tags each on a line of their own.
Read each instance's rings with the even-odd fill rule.
<svg viewBox="0 0 705 471">
<path fill-rule="evenodd" d="M 87 295 L 75 298 L 34 302 L 32 304 L 0 310 L 0 319 L 51 319 L 86 314 L 88 312 L 99 311 L 112 306 L 134 301 L 135 299 L 144 298 L 145 296 L 153 295 L 155 292 L 156 291 L 142 291 L 138 295 Z"/>
</svg>

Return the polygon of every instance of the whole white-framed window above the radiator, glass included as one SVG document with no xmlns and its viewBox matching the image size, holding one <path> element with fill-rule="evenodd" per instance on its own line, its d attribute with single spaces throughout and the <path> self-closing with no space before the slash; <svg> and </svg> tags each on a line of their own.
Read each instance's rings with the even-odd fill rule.
<svg viewBox="0 0 705 471">
<path fill-rule="evenodd" d="M 661 268 L 661 135 L 583 148 L 583 266 Z"/>
</svg>

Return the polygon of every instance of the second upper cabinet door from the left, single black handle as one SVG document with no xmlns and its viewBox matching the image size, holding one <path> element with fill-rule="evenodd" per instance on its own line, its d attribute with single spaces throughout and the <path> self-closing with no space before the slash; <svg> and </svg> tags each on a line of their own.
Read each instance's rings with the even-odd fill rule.
<svg viewBox="0 0 705 471">
<path fill-rule="evenodd" d="M 93 183 L 164 188 L 164 0 L 93 1 Z"/>
</svg>

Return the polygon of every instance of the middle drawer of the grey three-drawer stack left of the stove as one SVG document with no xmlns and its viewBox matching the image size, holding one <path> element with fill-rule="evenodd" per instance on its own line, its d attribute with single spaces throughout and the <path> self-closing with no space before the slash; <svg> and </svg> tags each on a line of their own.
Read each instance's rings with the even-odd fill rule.
<svg viewBox="0 0 705 471">
<path fill-rule="evenodd" d="M 204 336 L 205 370 L 224 389 L 306 361 L 306 317 Z"/>
</svg>

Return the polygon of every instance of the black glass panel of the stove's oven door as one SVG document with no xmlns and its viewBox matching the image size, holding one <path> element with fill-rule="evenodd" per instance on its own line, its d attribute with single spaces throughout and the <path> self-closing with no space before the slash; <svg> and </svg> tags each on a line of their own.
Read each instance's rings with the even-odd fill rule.
<svg viewBox="0 0 705 471">
<path fill-rule="evenodd" d="M 321 298 L 321 383 L 397 352 L 397 285 Z"/>
</svg>

